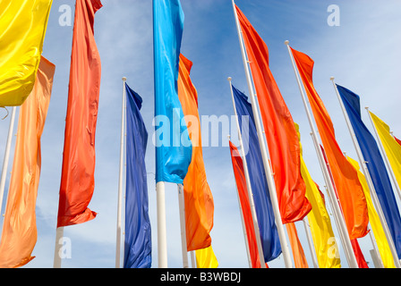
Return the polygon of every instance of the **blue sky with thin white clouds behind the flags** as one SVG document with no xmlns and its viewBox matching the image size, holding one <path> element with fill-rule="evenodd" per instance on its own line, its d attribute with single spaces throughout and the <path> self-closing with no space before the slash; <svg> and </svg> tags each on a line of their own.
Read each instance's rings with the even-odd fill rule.
<svg viewBox="0 0 401 286">
<path fill-rule="evenodd" d="M 98 216 L 88 223 L 64 228 L 64 236 L 72 243 L 72 257 L 64 259 L 62 267 L 115 267 L 123 76 L 127 78 L 128 85 L 143 98 L 141 113 L 149 132 L 146 166 L 152 226 L 152 267 L 157 267 L 155 150 L 151 140 L 154 130 L 152 1 L 102 0 L 102 3 L 103 8 L 95 16 L 95 38 L 101 57 L 102 79 L 96 134 L 95 190 L 90 202 L 90 209 L 97 212 Z M 235 88 L 248 94 L 231 1 L 181 0 L 181 3 L 185 14 L 181 52 L 193 63 L 191 77 L 198 90 L 200 116 L 231 116 L 234 110 L 227 77 L 232 77 Z M 334 76 L 338 84 L 360 95 L 361 106 L 370 106 L 371 112 L 387 122 L 398 138 L 401 137 L 398 114 L 401 103 L 401 56 L 398 52 L 401 45 L 401 18 L 398 13 L 401 10 L 400 1 L 387 0 L 383 4 L 372 0 L 237 0 L 235 3 L 269 46 L 270 69 L 294 122 L 300 125 L 305 162 L 323 192 L 325 184 L 309 136 L 310 127 L 284 45 L 285 40 L 289 40 L 294 49 L 310 55 L 314 60 L 315 88 L 334 123 L 338 144 L 348 156 L 356 159 L 330 76 Z M 36 258 L 24 267 L 53 266 L 73 38 L 73 26 L 59 24 L 62 15 L 59 7 L 63 4 L 70 5 L 72 12 L 74 10 L 74 1 L 53 2 L 43 47 L 43 55 L 55 63 L 56 68 L 47 122 L 41 138 L 38 242 L 32 253 Z M 328 26 L 330 13 L 327 10 L 330 4 L 337 4 L 340 9 L 338 27 Z M 1 109 L 0 116 L 4 117 L 5 114 Z M 1 164 L 10 117 L 0 120 Z M 363 121 L 371 130 L 371 122 L 364 110 Z M 15 134 L 18 121 L 14 126 Z M 232 132 L 236 133 L 235 126 Z M 215 204 L 214 227 L 210 233 L 212 247 L 220 267 L 248 267 L 226 135 L 223 131 L 219 132 L 218 147 L 210 147 L 210 138 L 209 147 L 203 147 L 206 173 Z M 13 151 L 8 172 L 11 172 L 12 164 Z M 9 176 L 2 214 L 8 185 Z M 333 218 L 331 207 L 327 207 Z M 332 224 L 337 235 L 333 220 Z M 312 266 L 303 223 L 296 223 L 296 227 L 308 263 Z M 178 195 L 176 186 L 168 183 L 166 229 L 168 266 L 182 267 Z M 365 259 L 373 267 L 369 236 L 359 242 Z M 340 255 L 342 265 L 347 267 L 342 250 Z M 269 267 L 284 267 L 283 257 L 269 262 Z"/>
</svg>

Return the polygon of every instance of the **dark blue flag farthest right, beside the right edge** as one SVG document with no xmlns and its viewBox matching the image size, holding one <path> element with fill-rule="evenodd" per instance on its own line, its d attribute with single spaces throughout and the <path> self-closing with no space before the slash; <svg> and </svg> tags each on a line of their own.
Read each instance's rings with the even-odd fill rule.
<svg viewBox="0 0 401 286">
<path fill-rule="evenodd" d="M 337 85 L 338 92 L 346 107 L 346 113 L 353 126 L 355 137 L 367 161 L 371 181 L 380 200 L 380 206 L 386 218 L 388 229 L 397 249 L 398 258 L 401 258 L 401 217 L 397 207 L 386 165 L 380 155 L 379 147 L 371 132 L 366 128 L 361 117 L 359 96 L 351 90 Z"/>
</svg>

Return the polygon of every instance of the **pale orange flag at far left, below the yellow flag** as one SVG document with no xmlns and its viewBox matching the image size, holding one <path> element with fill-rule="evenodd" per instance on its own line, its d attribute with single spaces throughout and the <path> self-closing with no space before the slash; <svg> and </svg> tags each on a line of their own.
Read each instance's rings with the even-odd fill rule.
<svg viewBox="0 0 401 286">
<path fill-rule="evenodd" d="M 52 93 L 55 65 L 42 56 L 34 87 L 20 108 L 13 170 L 5 208 L 0 267 L 26 265 L 35 247 L 36 198 L 40 177 L 40 137 Z"/>
</svg>

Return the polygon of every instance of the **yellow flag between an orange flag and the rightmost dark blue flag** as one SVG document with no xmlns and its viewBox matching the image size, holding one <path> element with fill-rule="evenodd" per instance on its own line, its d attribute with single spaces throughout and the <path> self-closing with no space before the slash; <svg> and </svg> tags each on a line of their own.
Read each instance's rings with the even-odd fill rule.
<svg viewBox="0 0 401 286">
<path fill-rule="evenodd" d="M 388 241 L 386 239 L 386 234 L 384 233 L 383 227 L 380 223 L 379 214 L 374 209 L 373 203 L 371 202 L 371 192 L 368 187 L 368 183 L 365 179 L 365 176 L 360 171 L 360 166 L 358 162 L 350 157 L 346 157 L 347 160 L 353 164 L 355 170 L 358 172 L 359 181 L 361 181 L 363 187 L 363 193 L 366 197 L 366 203 L 368 205 L 368 214 L 369 214 L 369 222 L 371 223 L 371 230 L 373 231 L 374 237 L 376 239 L 376 243 L 379 248 L 379 253 L 381 260 L 383 261 L 383 265 L 385 268 L 395 268 L 393 256 L 391 255 L 391 250 L 388 246 Z"/>
</svg>

